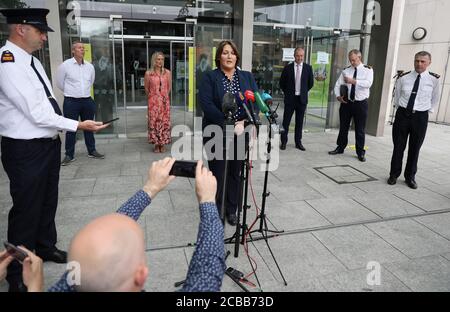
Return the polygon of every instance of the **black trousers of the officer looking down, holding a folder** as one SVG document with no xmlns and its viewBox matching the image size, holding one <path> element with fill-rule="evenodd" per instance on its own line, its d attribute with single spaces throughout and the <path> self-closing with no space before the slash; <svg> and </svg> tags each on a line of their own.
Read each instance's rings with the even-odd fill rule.
<svg viewBox="0 0 450 312">
<path fill-rule="evenodd" d="M 341 103 L 339 108 L 339 135 L 336 142 L 339 149 L 344 150 L 347 147 L 348 131 L 353 118 L 355 123 L 356 154 L 363 156 L 366 153 L 364 145 L 366 140 L 367 111 L 367 100 Z"/>
</svg>

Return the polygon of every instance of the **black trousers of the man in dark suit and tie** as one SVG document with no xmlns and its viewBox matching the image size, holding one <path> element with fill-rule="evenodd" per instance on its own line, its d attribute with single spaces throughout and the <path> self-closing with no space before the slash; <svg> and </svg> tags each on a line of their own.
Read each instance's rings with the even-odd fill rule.
<svg viewBox="0 0 450 312">
<path fill-rule="evenodd" d="M 288 141 L 289 125 L 291 124 L 292 115 L 295 112 L 295 144 L 302 143 L 303 119 L 305 118 L 306 104 L 302 103 L 300 96 L 295 97 L 295 103 L 284 104 L 283 128 L 284 133 L 281 134 L 281 143 L 286 144 Z"/>
</svg>

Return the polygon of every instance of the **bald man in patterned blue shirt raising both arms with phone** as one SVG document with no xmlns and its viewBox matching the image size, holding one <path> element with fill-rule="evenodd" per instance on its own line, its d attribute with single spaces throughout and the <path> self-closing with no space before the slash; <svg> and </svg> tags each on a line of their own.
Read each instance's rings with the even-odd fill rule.
<svg viewBox="0 0 450 312">
<path fill-rule="evenodd" d="M 154 162 L 142 190 L 117 213 L 95 219 L 75 235 L 70 244 L 69 262 L 79 265 L 79 283 L 76 283 L 76 274 L 66 272 L 49 291 L 132 292 L 143 289 L 148 267 L 144 233 L 136 221 L 156 194 L 175 178 L 169 176 L 174 162 L 173 158 Z M 225 248 L 223 225 L 215 204 L 217 181 L 201 161 L 197 163 L 195 187 L 200 204 L 200 227 L 182 290 L 219 291 L 225 273 Z"/>
</svg>

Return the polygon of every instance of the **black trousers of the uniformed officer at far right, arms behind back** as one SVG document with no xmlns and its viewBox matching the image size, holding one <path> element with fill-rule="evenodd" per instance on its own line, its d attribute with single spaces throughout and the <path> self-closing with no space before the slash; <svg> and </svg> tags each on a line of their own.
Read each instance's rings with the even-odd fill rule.
<svg viewBox="0 0 450 312">
<path fill-rule="evenodd" d="M 390 175 L 398 178 L 402 173 L 403 153 L 409 137 L 408 160 L 404 176 L 405 179 L 414 179 L 417 173 L 417 162 L 428 127 L 428 111 L 408 113 L 399 107 L 395 114 L 392 128 L 394 152 L 392 153 Z"/>
</svg>

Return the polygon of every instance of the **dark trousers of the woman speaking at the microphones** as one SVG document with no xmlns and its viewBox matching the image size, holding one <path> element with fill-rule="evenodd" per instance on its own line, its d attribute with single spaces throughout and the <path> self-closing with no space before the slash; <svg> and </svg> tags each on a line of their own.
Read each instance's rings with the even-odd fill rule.
<svg viewBox="0 0 450 312">
<path fill-rule="evenodd" d="M 212 138 L 203 138 L 203 144 L 207 144 Z M 233 151 L 229 152 L 229 155 L 233 157 L 229 157 L 228 160 L 228 175 L 227 175 L 227 185 L 226 185 L 226 194 L 225 194 L 225 214 L 233 215 L 236 214 L 239 203 L 239 192 L 242 188 L 241 181 L 241 168 L 242 163 L 245 159 L 245 136 L 233 136 Z M 223 139 L 223 146 L 225 146 L 225 138 Z M 231 145 L 231 143 L 229 143 Z M 230 146 L 228 147 L 230 148 Z M 215 153 L 215 148 L 211 149 L 212 153 Z M 214 177 L 217 180 L 217 193 L 216 193 L 216 205 L 217 209 L 222 209 L 222 194 L 223 194 L 223 178 L 225 172 L 225 149 L 222 150 L 222 159 L 215 159 L 213 154 L 210 154 L 207 149 L 207 157 L 208 157 L 208 167 L 209 170 L 213 173 Z"/>
</svg>

